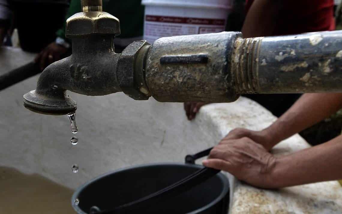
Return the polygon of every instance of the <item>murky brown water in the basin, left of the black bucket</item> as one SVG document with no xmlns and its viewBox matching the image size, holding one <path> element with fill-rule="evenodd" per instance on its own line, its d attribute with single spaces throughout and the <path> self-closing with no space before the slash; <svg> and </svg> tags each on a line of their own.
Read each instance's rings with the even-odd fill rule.
<svg viewBox="0 0 342 214">
<path fill-rule="evenodd" d="M 0 192 L 1 214 L 75 214 L 70 203 L 73 190 L 37 174 L 0 167 Z"/>
</svg>

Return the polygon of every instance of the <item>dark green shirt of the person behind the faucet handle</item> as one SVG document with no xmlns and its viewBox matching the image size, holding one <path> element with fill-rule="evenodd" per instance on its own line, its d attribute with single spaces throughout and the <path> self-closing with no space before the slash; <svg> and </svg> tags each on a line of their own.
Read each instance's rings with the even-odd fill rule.
<svg viewBox="0 0 342 214">
<path fill-rule="evenodd" d="M 118 38 L 133 38 L 143 36 L 144 6 L 140 0 L 103 0 L 103 11 L 114 15 L 120 20 L 121 34 Z M 81 1 L 71 0 L 65 21 L 81 11 Z M 65 39 L 65 25 L 56 34 Z"/>
</svg>

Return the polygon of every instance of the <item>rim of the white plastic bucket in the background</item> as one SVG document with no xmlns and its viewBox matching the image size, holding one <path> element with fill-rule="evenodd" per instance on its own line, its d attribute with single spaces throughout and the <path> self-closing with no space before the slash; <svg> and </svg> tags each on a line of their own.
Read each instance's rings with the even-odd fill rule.
<svg viewBox="0 0 342 214">
<path fill-rule="evenodd" d="M 210 4 L 210 3 L 187 3 L 181 1 L 173 1 L 173 2 L 162 2 L 155 0 L 142 0 L 141 4 L 145 6 L 165 6 L 165 7 L 186 7 L 186 8 L 209 8 L 209 9 L 225 9 L 230 10 L 233 9 L 233 3 L 229 5 L 222 4 Z"/>
</svg>

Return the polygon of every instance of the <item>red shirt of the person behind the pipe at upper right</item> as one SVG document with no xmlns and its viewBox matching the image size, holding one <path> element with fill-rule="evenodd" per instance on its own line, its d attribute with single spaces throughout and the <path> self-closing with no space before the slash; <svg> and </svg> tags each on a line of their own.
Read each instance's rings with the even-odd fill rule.
<svg viewBox="0 0 342 214">
<path fill-rule="evenodd" d="M 254 0 L 246 0 L 246 14 Z M 283 0 L 274 35 L 335 29 L 334 0 Z"/>
</svg>

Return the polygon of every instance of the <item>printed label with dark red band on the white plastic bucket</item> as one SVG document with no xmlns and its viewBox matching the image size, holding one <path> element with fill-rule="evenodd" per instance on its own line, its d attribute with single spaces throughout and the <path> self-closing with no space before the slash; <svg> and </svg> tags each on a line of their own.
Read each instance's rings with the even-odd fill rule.
<svg viewBox="0 0 342 214">
<path fill-rule="evenodd" d="M 145 15 L 144 39 L 150 43 L 160 37 L 219 33 L 225 19 Z"/>
</svg>

